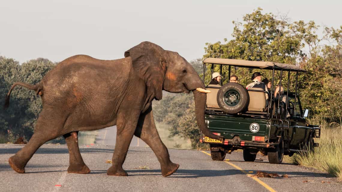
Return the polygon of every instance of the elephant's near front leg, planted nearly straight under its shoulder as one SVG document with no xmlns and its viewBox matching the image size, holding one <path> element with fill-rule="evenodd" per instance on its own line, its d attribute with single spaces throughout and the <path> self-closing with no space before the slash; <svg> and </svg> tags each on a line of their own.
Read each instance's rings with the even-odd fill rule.
<svg viewBox="0 0 342 192">
<path fill-rule="evenodd" d="M 128 118 L 126 115 L 122 115 L 121 117 L 118 116 L 116 125 L 116 143 L 112 158 L 112 166 L 109 167 L 109 169 L 107 170 L 107 175 L 128 176 L 127 172 L 123 170 L 122 164 L 126 159 L 128 148 L 133 138 L 138 116 L 139 115 L 136 115 L 136 117 L 134 117 L 134 115 L 133 117 L 129 116 L 132 118 Z"/>
</svg>

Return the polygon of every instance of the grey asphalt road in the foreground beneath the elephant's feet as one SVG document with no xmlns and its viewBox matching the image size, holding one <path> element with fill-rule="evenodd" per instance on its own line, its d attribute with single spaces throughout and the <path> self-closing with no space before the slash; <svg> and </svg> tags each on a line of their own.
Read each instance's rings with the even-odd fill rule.
<svg viewBox="0 0 342 192">
<path fill-rule="evenodd" d="M 342 191 L 342 184 L 326 173 L 291 164 L 269 164 L 259 154 L 257 159 L 263 161 L 245 162 L 241 152 L 227 154 L 229 161 L 212 161 L 206 154 L 209 151 L 169 149 L 171 160 L 180 168 L 165 178 L 149 147 L 131 146 L 123 164 L 129 176 L 107 176 L 110 164 L 106 160 L 111 159 L 114 146 L 88 146 L 80 145 L 80 150 L 91 169 L 89 174 L 68 174 L 67 146 L 54 144 L 41 146 L 26 165 L 26 173 L 18 174 L 8 158 L 23 145 L 0 144 L 0 191 Z M 289 178 L 246 174 L 257 171 L 287 174 Z"/>
</svg>

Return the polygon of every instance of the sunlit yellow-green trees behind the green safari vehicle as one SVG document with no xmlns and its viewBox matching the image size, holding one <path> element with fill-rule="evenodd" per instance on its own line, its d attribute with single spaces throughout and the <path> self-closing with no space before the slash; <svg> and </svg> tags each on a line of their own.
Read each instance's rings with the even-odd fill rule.
<svg viewBox="0 0 342 192">
<path fill-rule="evenodd" d="M 299 94 L 304 108 L 310 109 L 311 115 L 323 115 L 329 121 L 341 121 L 342 104 L 342 26 L 340 29 L 325 28 L 322 37 L 316 34 L 319 26 L 314 21 L 290 22 L 286 17 L 272 13 L 262 13 L 258 8 L 243 17 L 242 22 L 233 21 L 235 25 L 232 39 L 224 39 L 224 43 L 206 43 L 203 58 L 244 59 L 250 61 L 273 61 L 297 64 L 307 73 L 299 74 Z M 321 45 L 322 40 L 333 42 L 333 45 Z M 206 85 L 210 82 L 211 64 L 207 64 Z M 213 72 L 219 72 L 219 65 L 214 65 Z M 262 71 L 264 77 L 272 79 L 272 71 L 232 67 L 231 74 L 236 74 L 239 83 L 247 85 L 251 75 Z M 202 71 L 198 71 L 203 75 Z M 223 84 L 228 82 L 228 66 L 222 69 Z M 275 83 L 279 83 L 280 72 L 275 74 Z M 295 73 L 290 75 L 290 91 L 295 84 Z M 282 85 L 287 89 L 287 72 L 282 74 Z M 170 99 L 175 99 L 170 98 Z M 174 132 L 188 139 L 198 139 L 194 117 L 194 104 L 183 108 L 182 116 L 176 116 Z M 173 111 L 175 112 L 175 111 Z M 172 119 L 172 117 L 170 117 Z"/>
</svg>

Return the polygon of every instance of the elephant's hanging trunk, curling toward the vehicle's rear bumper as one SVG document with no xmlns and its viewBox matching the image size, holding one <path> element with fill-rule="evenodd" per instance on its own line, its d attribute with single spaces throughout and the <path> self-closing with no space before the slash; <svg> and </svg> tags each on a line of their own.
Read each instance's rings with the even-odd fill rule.
<svg viewBox="0 0 342 192">
<path fill-rule="evenodd" d="M 202 131 L 203 134 L 206 136 L 213 138 L 213 139 L 220 139 L 220 136 L 214 135 L 210 132 L 206 126 L 205 119 L 204 119 L 204 111 L 206 108 L 207 102 L 207 94 L 201 93 L 197 90 L 193 90 L 194 99 L 195 99 L 195 112 L 196 112 L 196 121 L 198 128 Z"/>
</svg>

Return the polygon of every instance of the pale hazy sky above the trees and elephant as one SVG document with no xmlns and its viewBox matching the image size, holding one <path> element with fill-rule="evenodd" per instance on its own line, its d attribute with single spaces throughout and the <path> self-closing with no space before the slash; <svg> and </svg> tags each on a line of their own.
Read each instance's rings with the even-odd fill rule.
<svg viewBox="0 0 342 192">
<path fill-rule="evenodd" d="M 0 0 L 0 55 L 25 62 L 77 54 L 118 59 L 142 41 L 201 58 L 206 42 L 231 39 L 233 20 L 261 7 L 291 21 L 338 28 L 342 1 Z"/>
</svg>

